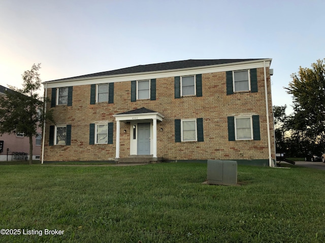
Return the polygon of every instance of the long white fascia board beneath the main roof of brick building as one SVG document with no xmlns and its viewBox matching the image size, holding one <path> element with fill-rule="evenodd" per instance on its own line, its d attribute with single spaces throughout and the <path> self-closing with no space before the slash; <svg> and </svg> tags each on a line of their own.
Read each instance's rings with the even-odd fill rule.
<svg viewBox="0 0 325 243">
<path fill-rule="evenodd" d="M 213 72 L 225 72 L 225 71 L 236 71 L 250 68 L 263 68 L 264 61 L 266 61 L 266 67 L 270 67 L 272 59 L 258 59 L 252 61 L 235 62 L 235 63 L 224 63 L 217 65 L 209 65 L 202 67 L 190 67 L 172 70 L 161 70 L 153 72 L 139 72 L 139 73 L 128 73 L 118 74 L 109 76 L 98 76 L 98 77 L 83 77 L 69 80 L 57 80 L 44 82 L 48 88 L 61 88 L 68 86 L 81 86 L 81 85 L 94 85 L 94 84 L 108 84 L 115 82 L 128 82 L 133 80 L 145 80 L 151 78 L 164 78 L 194 74 L 204 74 Z"/>
</svg>

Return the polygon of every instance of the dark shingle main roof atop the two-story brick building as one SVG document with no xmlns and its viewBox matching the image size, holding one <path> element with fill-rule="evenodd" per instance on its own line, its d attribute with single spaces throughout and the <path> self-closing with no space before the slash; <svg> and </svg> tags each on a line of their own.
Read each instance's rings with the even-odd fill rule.
<svg viewBox="0 0 325 243">
<path fill-rule="evenodd" d="M 191 67 L 203 67 L 203 66 L 210 66 L 210 65 L 245 62 L 245 61 L 253 61 L 253 60 L 261 60 L 261 59 L 258 58 L 257 59 L 203 59 L 203 60 L 189 59 L 183 61 L 138 65 L 138 66 L 126 67 L 126 68 L 121 68 L 121 69 L 116 69 L 111 71 L 97 72 L 97 73 L 91 73 L 91 74 L 86 74 L 81 76 L 56 79 L 52 81 L 58 81 L 58 80 L 63 81 L 63 80 L 70 80 L 70 79 L 77 79 L 77 78 L 99 77 L 99 76 L 109 76 L 109 75 L 118 75 L 118 74 L 132 74 L 132 73 L 140 73 L 140 72 L 164 71 L 164 70 L 173 70 L 173 69 L 181 69 L 181 68 L 191 68 Z"/>
</svg>

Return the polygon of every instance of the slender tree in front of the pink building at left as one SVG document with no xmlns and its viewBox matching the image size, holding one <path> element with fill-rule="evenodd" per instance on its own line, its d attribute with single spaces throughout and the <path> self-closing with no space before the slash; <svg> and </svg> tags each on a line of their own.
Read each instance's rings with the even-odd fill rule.
<svg viewBox="0 0 325 243">
<path fill-rule="evenodd" d="M 29 138 L 29 165 L 32 164 L 32 137 L 37 136 L 37 128 L 46 120 L 53 121 L 52 111 L 44 112 L 46 98 L 37 93 L 41 87 L 40 68 L 40 63 L 33 64 L 22 74 L 23 88 L 9 86 L 12 91 L 0 97 L 0 134 L 23 133 Z"/>
</svg>

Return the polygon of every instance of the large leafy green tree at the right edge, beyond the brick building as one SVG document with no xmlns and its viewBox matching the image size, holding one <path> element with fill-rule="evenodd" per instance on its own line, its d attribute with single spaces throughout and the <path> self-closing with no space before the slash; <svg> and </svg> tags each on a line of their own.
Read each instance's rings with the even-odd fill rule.
<svg viewBox="0 0 325 243">
<path fill-rule="evenodd" d="M 311 68 L 299 68 L 293 73 L 293 81 L 285 88 L 293 95 L 293 129 L 302 131 L 312 141 L 322 144 L 325 141 L 325 59 L 317 60 Z"/>
</svg>

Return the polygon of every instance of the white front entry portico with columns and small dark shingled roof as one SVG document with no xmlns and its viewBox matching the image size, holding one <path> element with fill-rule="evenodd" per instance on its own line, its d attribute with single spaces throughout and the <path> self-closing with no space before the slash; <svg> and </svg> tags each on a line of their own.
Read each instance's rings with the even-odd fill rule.
<svg viewBox="0 0 325 243">
<path fill-rule="evenodd" d="M 120 158 L 120 122 L 130 124 L 130 155 L 152 155 L 157 158 L 157 121 L 164 116 L 147 108 L 113 115 L 116 120 L 116 155 Z"/>
</svg>

